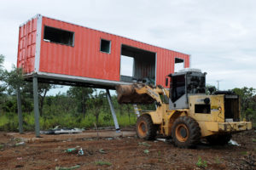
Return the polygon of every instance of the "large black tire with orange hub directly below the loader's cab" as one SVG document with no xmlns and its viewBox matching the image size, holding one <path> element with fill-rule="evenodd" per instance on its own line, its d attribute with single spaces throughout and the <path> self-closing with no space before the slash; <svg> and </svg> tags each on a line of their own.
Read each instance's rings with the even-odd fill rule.
<svg viewBox="0 0 256 170">
<path fill-rule="evenodd" d="M 186 130 L 185 137 L 179 128 Z M 172 125 L 172 139 L 174 144 L 179 148 L 192 148 L 198 144 L 201 139 L 201 128 L 198 122 L 189 116 L 178 117 Z"/>
</svg>

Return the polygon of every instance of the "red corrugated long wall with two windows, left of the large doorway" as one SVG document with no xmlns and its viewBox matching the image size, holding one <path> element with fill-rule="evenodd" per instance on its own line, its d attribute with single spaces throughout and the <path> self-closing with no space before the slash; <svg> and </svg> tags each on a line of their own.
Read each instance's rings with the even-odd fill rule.
<svg viewBox="0 0 256 170">
<path fill-rule="evenodd" d="M 43 17 L 44 26 L 74 32 L 73 46 L 44 41 L 42 33 L 40 69 L 42 72 L 119 81 L 120 49 L 115 37 L 81 26 Z M 101 39 L 111 41 L 110 54 L 100 51 Z"/>
</svg>

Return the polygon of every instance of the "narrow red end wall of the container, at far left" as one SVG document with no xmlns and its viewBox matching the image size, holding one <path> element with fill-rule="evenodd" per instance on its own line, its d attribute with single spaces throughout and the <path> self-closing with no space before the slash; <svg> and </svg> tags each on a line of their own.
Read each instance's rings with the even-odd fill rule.
<svg viewBox="0 0 256 170">
<path fill-rule="evenodd" d="M 17 67 L 25 73 L 34 71 L 37 38 L 37 19 L 34 18 L 20 26 Z"/>
</svg>

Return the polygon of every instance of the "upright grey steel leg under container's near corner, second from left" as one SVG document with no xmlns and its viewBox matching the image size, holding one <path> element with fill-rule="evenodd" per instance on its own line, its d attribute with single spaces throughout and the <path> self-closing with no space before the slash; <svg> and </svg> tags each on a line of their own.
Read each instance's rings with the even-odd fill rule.
<svg viewBox="0 0 256 170">
<path fill-rule="evenodd" d="M 39 106 L 38 106 L 38 77 L 33 76 L 33 96 L 34 96 L 34 113 L 35 113 L 35 131 L 36 137 L 40 137 L 39 126 Z"/>
</svg>

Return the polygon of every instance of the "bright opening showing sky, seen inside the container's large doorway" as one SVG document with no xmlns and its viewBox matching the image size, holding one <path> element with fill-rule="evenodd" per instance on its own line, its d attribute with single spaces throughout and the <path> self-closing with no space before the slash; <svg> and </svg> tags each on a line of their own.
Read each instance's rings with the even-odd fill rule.
<svg viewBox="0 0 256 170">
<path fill-rule="evenodd" d="M 133 61 L 132 57 L 121 55 L 120 75 L 125 77 L 133 77 Z"/>
</svg>

